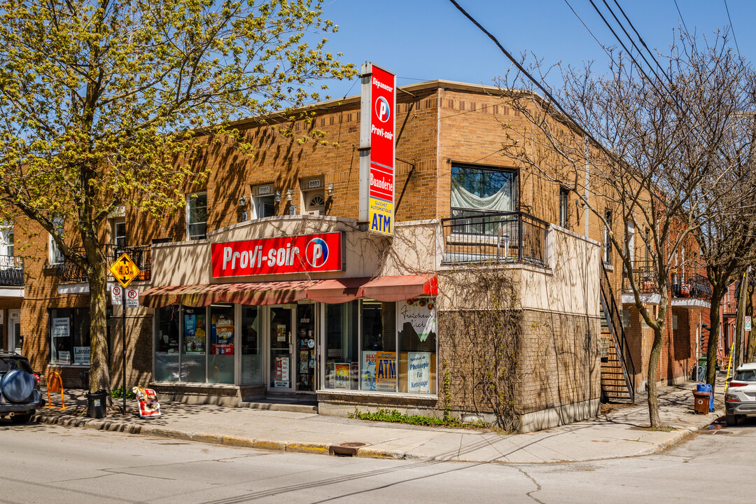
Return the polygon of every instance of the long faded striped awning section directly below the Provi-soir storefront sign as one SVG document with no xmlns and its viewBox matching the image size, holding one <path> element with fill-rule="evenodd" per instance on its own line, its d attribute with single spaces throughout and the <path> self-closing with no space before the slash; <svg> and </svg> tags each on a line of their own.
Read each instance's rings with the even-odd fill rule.
<svg viewBox="0 0 756 504">
<path fill-rule="evenodd" d="M 212 303 L 239 305 L 281 305 L 307 297 L 311 280 L 288 282 L 212 283 L 192 286 L 161 286 L 142 292 L 142 305 L 160 308 L 167 305 L 200 307 Z"/>
</svg>

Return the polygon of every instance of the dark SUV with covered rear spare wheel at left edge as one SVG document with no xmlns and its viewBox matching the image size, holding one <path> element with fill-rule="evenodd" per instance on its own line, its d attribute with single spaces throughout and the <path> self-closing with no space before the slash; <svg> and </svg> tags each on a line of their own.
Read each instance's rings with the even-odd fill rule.
<svg viewBox="0 0 756 504">
<path fill-rule="evenodd" d="M 0 352 L 0 417 L 26 423 L 36 409 L 45 404 L 39 391 L 39 376 L 29 359 L 12 352 Z"/>
</svg>

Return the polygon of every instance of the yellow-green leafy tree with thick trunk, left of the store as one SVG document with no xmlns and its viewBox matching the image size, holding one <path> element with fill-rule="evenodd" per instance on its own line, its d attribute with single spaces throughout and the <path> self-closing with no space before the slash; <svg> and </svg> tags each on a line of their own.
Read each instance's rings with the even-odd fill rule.
<svg viewBox="0 0 756 504">
<path fill-rule="evenodd" d="M 187 181 L 207 175 L 192 168 L 197 135 L 250 153 L 234 119 L 292 119 L 287 110 L 321 99 L 316 79 L 352 78 L 353 65 L 324 52 L 321 36 L 337 27 L 321 3 L 4 2 L 0 212 L 38 222 L 84 271 L 91 390 L 110 388 L 108 216 L 121 205 L 156 218 L 183 207 Z"/>
</svg>

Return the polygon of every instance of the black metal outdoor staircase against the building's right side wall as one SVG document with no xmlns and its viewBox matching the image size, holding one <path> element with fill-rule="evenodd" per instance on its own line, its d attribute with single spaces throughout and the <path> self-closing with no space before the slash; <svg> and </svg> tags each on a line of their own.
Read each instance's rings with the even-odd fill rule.
<svg viewBox="0 0 756 504">
<path fill-rule="evenodd" d="M 605 400 L 635 403 L 635 365 L 625 339 L 612 284 L 601 261 L 601 309 L 606 320 L 609 345 L 601 359 L 601 393 Z"/>
</svg>

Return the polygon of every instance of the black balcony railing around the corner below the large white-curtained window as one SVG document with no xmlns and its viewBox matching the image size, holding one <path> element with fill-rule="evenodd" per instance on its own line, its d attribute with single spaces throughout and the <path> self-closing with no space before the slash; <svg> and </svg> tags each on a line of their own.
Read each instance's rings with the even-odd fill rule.
<svg viewBox="0 0 756 504">
<path fill-rule="evenodd" d="M 525 262 L 546 265 L 548 224 L 523 212 L 442 219 L 444 264 Z"/>
</svg>

